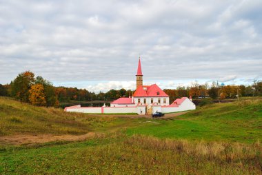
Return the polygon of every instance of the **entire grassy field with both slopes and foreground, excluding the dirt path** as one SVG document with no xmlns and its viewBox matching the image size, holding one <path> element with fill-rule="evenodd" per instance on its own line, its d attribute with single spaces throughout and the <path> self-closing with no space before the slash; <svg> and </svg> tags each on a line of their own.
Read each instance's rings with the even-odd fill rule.
<svg viewBox="0 0 262 175">
<path fill-rule="evenodd" d="M 0 144 L 0 174 L 262 174 L 262 101 L 170 119 L 90 116 L 0 97 L 0 137 L 99 132 L 85 141 Z"/>
</svg>

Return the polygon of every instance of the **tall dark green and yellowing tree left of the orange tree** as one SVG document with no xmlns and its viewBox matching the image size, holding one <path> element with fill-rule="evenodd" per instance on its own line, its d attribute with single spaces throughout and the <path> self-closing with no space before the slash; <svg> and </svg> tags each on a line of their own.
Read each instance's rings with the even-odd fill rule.
<svg viewBox="0 0 262 175">
<path fill-rule="evenodd" d="M 28 91 L 34 84 L 34 73 L 30 71 L 22 72 L 11 82 L 11 94 L 15 99 L 28 102 Z"/>
</svg>

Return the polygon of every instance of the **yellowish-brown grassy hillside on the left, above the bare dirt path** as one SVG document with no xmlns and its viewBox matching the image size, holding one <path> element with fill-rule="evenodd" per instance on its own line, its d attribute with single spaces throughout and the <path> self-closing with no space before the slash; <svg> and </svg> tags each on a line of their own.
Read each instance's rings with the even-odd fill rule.
<svg viewBox="0 0 262 175">
<path fill-rule="evenodd" d="M 35 107 L 0 96 L 0 136 L 13 134 L 86 134 L 117 121 L 63 112 L 53 107 Z"/>
</svg>

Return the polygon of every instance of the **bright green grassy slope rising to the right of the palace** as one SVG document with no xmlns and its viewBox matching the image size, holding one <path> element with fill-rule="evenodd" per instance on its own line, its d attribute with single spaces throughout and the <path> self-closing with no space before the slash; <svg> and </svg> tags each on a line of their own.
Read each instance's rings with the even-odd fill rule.
<svg viewBox="0 0 262 175">
<path fill-rule="evenodd" d="M 262 140 L 262 102 L 241 101 L 199 107 L 174 120 L 154 120 L 127 133 L 159 138 L 254 143 Z"/>
</svg>

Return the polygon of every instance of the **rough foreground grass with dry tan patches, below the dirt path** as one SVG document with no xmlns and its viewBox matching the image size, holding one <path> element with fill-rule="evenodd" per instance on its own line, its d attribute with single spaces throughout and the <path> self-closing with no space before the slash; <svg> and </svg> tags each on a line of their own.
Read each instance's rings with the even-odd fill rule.
<svg viewBox="0 0 262 175">
<path fill-rule="evenodd" d="M 2 150 L 0 174 L 260 174 L 261 151 L 259 145 L 117 134 Z"/>
</svg>

